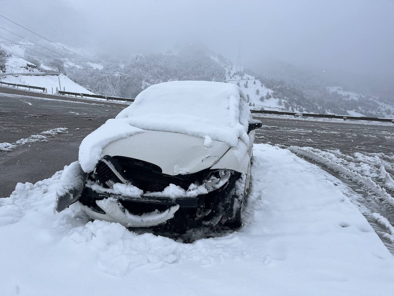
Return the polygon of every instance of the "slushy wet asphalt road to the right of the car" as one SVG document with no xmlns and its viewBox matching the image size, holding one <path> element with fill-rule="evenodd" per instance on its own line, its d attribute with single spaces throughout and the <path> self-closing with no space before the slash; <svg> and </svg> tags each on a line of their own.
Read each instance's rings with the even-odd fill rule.
<svg viewBox="0 0 394 296">
<path fill-rule="evenodd" d="M 344 154 L 355 152 L 393 155 L 394 124 L 370 126 L 307 120 L 258 118 L 262 128 L 256 132 L 256 143 L 281 144 L 318 149 L 339 149 Z"/>
</svg>

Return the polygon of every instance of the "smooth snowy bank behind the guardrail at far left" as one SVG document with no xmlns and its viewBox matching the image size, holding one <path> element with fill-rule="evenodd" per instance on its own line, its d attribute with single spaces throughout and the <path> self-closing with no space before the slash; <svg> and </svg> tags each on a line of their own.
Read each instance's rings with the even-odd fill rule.
<svg viewBox="0 0 394 296">
<path fill-rule="evenodd" d="M 59 86 L 60 79 L 60 86 Z M 81 92 L 84 94 L 93 94 L 83 86 L 75 83 L 63 74 L 59 75 L 7 75 L 2 78 L 3 82 L 26 84 L 33 86 L 46 87 L 48 94 L 56 93 L 56 88 L 66 92 Z M 23 88 L 21 88 L 23 89 Z M 28 88 L 25 88 L 28 89 Z"/>
</svg>

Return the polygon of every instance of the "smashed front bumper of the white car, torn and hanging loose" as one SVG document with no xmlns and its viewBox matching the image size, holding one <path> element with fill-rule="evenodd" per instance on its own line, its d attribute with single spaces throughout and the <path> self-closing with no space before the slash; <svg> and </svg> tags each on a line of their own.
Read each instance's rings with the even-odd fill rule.
<svg viewBox="0 0 394 296">
<path fill-rule="evenodd" d="M 72 174 L 71 171 L 69 173 L 79 182 L 67 194 L 57 195 L 57 212 L 78 202 L 82 210 L 93 219 L 116 222 L 130 228 L 164 227 L 176 232 L 206 223 L 215 226 L 219 221 L 225 223 L 236 217 L 234 204 L 238 202 L 236 182 L 241 178 L 239 172 L 225 169 L 200 172 L 199 179 L 196 180 L 201 180 L 201 185 L 192 183 L 182 188 L 169 184 L 168 187 L 177 187 L 175 191 L 170 190 L 170 195 L 166 190 L 141 195 L 138 191 L 145 191 L 130 185 L 128 181 L 125 181 L 127 184 L 110 182 L 110 188 L 104 188 L 94 178 L 94 174 L 88 178 L 78 167 L 79 164 L 76 164 L 73 168 L 67 168 L 73 170 Z M 180 179 L 178 176 L 171 178 Z M 120 190 L 121 192 L 131 193 L 130 195 L 135 193 L 135 196 L 126 196 L 126 193 L 115 190 L 120 184 L 123 189 L 128 189 Z"/>
</svg>

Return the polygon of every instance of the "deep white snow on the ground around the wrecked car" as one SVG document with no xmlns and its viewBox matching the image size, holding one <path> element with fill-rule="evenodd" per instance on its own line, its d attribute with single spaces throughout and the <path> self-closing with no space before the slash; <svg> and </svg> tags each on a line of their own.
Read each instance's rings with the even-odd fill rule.
<svg viewBox="0 0 394 296">
<path fill-rule="evenodd" d="M 254 148 L 244 226 L 185 244 L 53 214 L 61 171 L 0 199 L 1 295 L 384 295 L 394 259 L 344 183 L 290 151 Z"/>
</svg>

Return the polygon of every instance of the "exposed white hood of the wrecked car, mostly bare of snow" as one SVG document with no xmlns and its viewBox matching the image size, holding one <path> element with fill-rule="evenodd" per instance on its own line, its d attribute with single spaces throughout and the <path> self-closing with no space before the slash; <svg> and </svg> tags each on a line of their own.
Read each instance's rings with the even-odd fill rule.
<svg viewBox="0 0 394 296">
<path fill-rule="evenodd" d="M 224 142 L 181 133 L 149 131 L 111 142 L 103 155 L 125 156 L 158 165 L 164 174 L 190 174 L 212 167 L 229 149 Z"/>
</svg>

